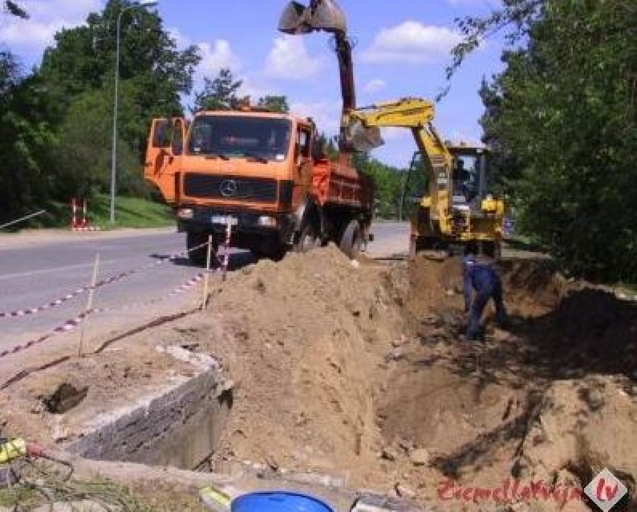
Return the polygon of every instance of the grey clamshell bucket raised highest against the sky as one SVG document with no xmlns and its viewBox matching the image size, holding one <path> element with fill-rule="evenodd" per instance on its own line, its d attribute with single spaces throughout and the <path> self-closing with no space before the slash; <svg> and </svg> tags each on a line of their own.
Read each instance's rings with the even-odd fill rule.
<svg viewBox="0 0 637 512">
<path fill-rule="evenodd" d="M 345 33 L 347 22 L 336 0 L 311 0 L 309 6 L 290 2 L 283 10 L 278 29 L 285 34 L 307 34 L 319 30 Z"/>
</svg>

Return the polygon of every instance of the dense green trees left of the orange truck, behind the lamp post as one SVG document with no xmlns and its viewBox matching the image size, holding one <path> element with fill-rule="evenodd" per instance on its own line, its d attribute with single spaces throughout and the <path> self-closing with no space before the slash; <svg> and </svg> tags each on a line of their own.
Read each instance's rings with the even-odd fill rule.
<svg viewBox="0 0 637 512">
<path fill-rule="evenodd" d="M 85 24 L 58 32 L 30 76 L 0 53 L 0 220 L 110 187 L 119 17 L 118 192 L 148 195 L 140 172 L 148 124 L 182 115 L 180 97 L 192 90 L 201 57 L 194 46 L 177 50 L 155 13 L 110 0 Z"/>
</svg>

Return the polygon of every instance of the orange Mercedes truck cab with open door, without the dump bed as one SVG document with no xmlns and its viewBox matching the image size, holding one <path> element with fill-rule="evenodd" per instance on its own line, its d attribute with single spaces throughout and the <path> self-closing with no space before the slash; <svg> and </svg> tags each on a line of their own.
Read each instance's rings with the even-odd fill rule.
<svg viewBox="0 0 637 512">
<path fill-rule="evenodd" d="M 233 225 L 233 245 L 274 255 L 293 242 L 302 204 L 311 201 L 311 120 L 244 109 L 201 111 L 152 122 L 145 178 L 176 211 L 193 250 Z"/>
</svg>

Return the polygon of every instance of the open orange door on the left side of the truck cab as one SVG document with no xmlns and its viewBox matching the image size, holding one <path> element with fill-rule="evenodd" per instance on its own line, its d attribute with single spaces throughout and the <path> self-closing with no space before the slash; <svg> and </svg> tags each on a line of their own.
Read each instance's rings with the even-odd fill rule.
<svg viewBox="0 0 637 512">
<path fill-rule="evenodd" d="M 159 187 L 166 203 L 179 200 L 179 171 L 186 137 L 182 118 L 154 119 L 148 137 L 144 177 Z"/>
</svg>

